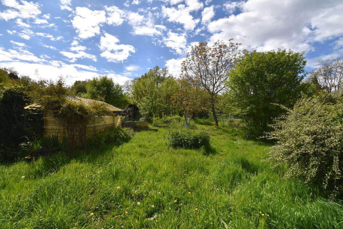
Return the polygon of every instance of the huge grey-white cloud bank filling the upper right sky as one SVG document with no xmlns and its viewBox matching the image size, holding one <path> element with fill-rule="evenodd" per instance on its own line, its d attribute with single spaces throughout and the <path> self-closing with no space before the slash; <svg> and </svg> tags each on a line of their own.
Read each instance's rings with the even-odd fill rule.
<svg viewBox="0 0 343 229">
<path fill-rule="evenodd" d="M 211 42 L 234 38 L 250 50 L 311 51 L 314 41 L 343 34 L 343 2 L 339 0 L 248 0 L 229 5 L 228 10 L 239 8 L 241 13 L 211 22 Z"/>
</svg>

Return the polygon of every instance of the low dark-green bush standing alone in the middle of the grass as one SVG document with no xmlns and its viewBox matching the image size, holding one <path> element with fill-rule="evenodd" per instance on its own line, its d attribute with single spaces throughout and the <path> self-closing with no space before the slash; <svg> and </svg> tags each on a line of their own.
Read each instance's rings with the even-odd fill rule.
<svg viewBox="0 0 343 229">
<path fill-rule="evenodd" d="M 200 148 L 209 146 L 210 135 L 205 131 L 173 131 L 168 137 L 168 145 L 173 148 Z"/>
</svg>

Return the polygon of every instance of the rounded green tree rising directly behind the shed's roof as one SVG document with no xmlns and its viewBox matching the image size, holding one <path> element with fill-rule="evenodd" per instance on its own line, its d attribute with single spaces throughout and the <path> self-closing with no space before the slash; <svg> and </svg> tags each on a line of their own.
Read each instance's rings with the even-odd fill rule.
<svg viewBox="0 0 343 229">
<path fill-rule="evenodd" d="M 107 76 L 94 77 L 87 81 L 86 91 L 87 98 L 104 101 L 118 108 L 124 108 L 129 104 L 121 85 L 114 83 L 113 79 Z"/>
</svg>

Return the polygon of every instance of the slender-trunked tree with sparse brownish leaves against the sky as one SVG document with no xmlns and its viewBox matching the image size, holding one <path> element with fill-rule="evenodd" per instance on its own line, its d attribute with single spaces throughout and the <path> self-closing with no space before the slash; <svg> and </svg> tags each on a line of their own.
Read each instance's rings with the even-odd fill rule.
<svg viewBox="0 0 343 229">
<path fill-rule="evenodd" d="M 215 113 L 216 95 L 226 87 L 225 81 L 233 68 L 241 44 L 229 39 L 228 44 L 217 41 L 212 47 L 207 42 L 192 46 L 186 60 L 181 64 L 181 74 L 192 84 L 207 91 L 211 98 L 211 110 L 216 127 L 218 120 Z"/>
</svg>

